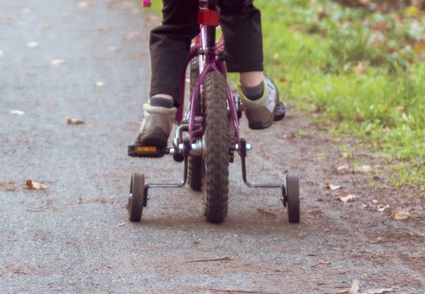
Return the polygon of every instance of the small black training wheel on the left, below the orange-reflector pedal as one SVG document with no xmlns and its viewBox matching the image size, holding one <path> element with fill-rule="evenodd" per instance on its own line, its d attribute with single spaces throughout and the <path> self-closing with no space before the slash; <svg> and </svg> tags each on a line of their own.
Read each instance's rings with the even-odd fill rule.
<svg viewBox="0 0 425 294">
<path fill-rule="evenodd" d="M 130 182 L 130 198 L 128 199 L 128 219 L 130 222 L 140 222 L 143 204 L 145 203 L 145 175 L 132 174 Z"/>
</svg>

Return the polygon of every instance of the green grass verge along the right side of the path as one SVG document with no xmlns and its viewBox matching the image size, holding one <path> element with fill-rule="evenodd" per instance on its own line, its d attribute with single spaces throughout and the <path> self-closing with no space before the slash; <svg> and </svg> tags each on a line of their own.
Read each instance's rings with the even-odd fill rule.
<svg viewBox="0 0 425 294">
<path fill-rule="evenodd" d="M 385 154 L 395 187 L 425 191 L 424 12 L 384 14 L 330 0 L 255 4 L 266 72 L 288 106 L 319 113 L 314 123 Z"/>
</svg>

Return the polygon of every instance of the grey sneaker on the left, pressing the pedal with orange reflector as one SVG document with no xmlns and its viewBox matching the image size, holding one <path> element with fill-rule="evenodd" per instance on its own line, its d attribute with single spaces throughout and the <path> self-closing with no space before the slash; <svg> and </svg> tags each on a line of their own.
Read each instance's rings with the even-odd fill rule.
<svg viewBox="0 0 425 294">
<path fill-rule="evenodd" d="M 173 128 L 176 108 L 164 108 L 143 105 L 143 120 L 137 132 L 135 144 L 163 148 L 167 146 L 168 138 Z"/>
</svg>

